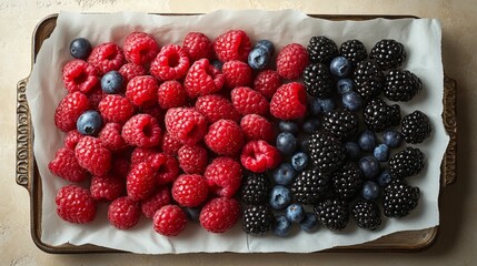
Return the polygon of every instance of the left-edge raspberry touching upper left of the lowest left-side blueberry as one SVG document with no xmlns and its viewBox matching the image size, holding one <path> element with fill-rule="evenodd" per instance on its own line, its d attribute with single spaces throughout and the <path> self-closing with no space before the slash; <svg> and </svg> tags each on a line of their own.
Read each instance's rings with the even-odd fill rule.
<svg viewBox="0 0 477 266">
<path fill-rule="evenodd" d="M 67 94 L 54 111 L 54 125 L 63 132 L 77 129 L 78 117 L 89 109 L 89 100 L 81 92 Z"/>
</svg>

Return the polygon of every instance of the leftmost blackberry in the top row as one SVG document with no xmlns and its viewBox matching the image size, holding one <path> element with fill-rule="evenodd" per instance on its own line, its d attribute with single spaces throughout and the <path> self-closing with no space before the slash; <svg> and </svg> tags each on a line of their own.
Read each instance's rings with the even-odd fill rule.
<svg viewBox="0 0 477 266">
<path fill-rule="evenodd" d="M 336 43 L 324 35 L 311 37 L 307 50 L 311 63 L 324 63 L 328 65 L 331 59 L 338 55 L 338 47 Z"/>
</svg>

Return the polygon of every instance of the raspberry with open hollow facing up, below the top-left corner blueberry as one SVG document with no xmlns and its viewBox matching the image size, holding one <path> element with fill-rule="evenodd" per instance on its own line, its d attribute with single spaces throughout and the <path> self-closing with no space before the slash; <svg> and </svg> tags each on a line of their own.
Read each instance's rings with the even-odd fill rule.
<svg viewBox="0 0 477 266">
<path fill-rule="evenodd" d="M 96 69 L 79 59 L 68 62 L 63 66 L 63 84 L 69 93 L 89 92 L 99 82 Z"/>
</svg>

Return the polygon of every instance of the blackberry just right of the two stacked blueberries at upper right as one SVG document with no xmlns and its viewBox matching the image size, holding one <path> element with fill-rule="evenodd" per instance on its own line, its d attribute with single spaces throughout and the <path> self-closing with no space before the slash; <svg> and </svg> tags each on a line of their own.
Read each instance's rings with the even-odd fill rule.
<svg viewBox="0 0 477 266">
<path fill-rule="evenodd" d="M 385 84 L 385 74 L 375 61 L 365 60 L 356 64 L 352 72 L 355 91 L 365 101 L 378 95 Z"/>
</svg>

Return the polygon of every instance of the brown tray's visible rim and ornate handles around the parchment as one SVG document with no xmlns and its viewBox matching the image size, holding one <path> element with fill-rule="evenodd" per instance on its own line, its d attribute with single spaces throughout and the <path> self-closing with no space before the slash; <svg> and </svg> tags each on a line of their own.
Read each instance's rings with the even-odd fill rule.
<svg viewBox="0 0 477 266">
<path fill-rule="evenodd" d="M 170 14 L 177 16 L 177 14 Z M 401 19 L 416 18 L 410 16 L 329 16 L 312 14 L 311 17 L 329 20 L 369 20 L 376 18 Z M 32 38 L 32 65 L 41 44 L 49 38 L 56 27 L 58 14 L 51 14 L 39 22 Z M 30 194 L 30 224 L 31 236 L 34 244 L 47 253 L 111 253 L 121 252 L 96 245 L 74 246 L 64 244 L 51 246 L 41 242 L 41 176 L 37 168 L 33 155 L 33 130 L 26 98 L 26 89 L 29 78 L 18 82 L 17 85 L 17 184 L 27 188 Z M 444 76 L 444 112 L 443 122 L 450 137 L 445 156 L 443 158 L 440 191 L 456 181 L 456 149 L 457 149 L 457 121 L 456 121 L 456 81 Z M 372 242 L 354 246 L 340 246 L 325 252 L 416 252 L 433 245 L 437 239 L 439 227 L 421 231 L 398 232 Z"/>
</svg>

